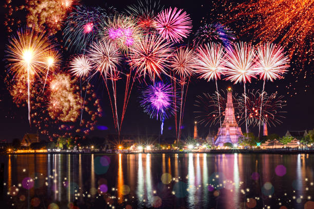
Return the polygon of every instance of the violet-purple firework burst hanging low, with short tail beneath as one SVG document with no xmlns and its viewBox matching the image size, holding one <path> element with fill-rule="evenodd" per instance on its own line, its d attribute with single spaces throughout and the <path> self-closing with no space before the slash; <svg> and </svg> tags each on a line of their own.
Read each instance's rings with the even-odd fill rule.
<svg viewBox="0 0 314 209">
<path fill-rule="evenodd" d="M 150 118 L 162 121 L 161 134 L 163 134 L 164 120 L 174 114 L 172 101 L 172 88 L 163 82 L 149 85 L 141 93 L 141 106 Z"/>
</svg>

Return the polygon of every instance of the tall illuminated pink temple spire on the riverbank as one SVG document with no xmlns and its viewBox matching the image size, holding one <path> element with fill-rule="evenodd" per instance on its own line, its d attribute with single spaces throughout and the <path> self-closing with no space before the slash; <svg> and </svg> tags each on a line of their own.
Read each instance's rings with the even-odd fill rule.
<svg viewBox="0 0 314 209">
<path fill-rule="evenodd" d="M 241 128 L 238 126 L 237 121 L 235 121 L 234 108 L 232 103 L 232 90 L 228 88 L 227 94 L 227 105 L 225 110 L 225 119 L 218 129 L 217 139 L 215 141 L 216 145 L 223 145 L 224 143 L 238 143 L 240 136 L 243 136 Z"/>
</svg>

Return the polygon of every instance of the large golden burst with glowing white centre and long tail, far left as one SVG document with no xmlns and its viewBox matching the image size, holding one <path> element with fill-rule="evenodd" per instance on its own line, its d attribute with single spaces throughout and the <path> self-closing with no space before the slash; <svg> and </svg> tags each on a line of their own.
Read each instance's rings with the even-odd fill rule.
<svg viewBox="0 0 314 209">
<path fill-rule="evenodd" d="M 47 54 L 51 44 L 45 33 L 36 33 L 33 29 L 25 29 L 17 32 L 17 36 L 9 39 L 6 60 L 7 68 L 15 79 L 24 77 L 27 79 L 28 94 L 28 120 L 31 124 L 30 85 L 35 76 L 41 76 L 45 69 Z"/>
</svg>

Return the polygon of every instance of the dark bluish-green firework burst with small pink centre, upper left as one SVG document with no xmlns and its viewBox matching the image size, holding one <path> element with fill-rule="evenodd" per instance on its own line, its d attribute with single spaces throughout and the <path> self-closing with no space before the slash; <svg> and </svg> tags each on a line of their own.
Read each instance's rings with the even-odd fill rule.
<svg viewBox="0 0 314 209">
<path fill-rule="evenodd" d="M 84 52 L 96 38 L 101 21 L 107 19 L 106 15 L 100 7 L 77 6 L 66 21 L 63 37 L 65 46 L 74 52 Z"/>
</svg>

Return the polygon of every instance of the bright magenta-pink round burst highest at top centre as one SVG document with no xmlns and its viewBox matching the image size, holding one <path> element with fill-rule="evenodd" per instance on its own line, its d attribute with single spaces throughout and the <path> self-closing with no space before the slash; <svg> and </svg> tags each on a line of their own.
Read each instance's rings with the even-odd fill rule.
<svg viewBox="0 0 314 209">
<path fill-rule="evenodd" d="M 177 8 L 163 10 L 156 17 L 156 29 L 167 40 L 180 42 L 191 32 L 192 20 L 186 12 Z"/>
</svg>

